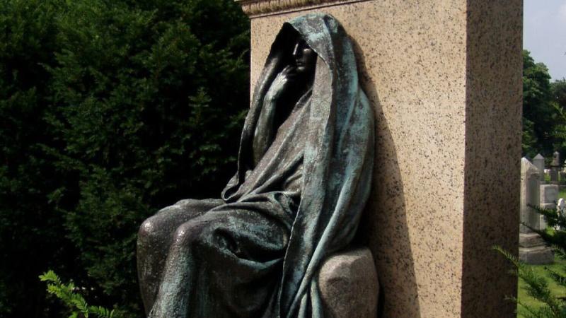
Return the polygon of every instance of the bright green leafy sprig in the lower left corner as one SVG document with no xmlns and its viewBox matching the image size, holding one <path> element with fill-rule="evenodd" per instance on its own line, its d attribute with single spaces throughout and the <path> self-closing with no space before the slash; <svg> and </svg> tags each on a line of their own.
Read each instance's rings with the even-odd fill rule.
<svg viewBox="0 0 566 318">
<path fill-rule="evenodd" d="M 40 281 L 47 282 L 47 292 L 62 300 L 64 305 L 69 308 L 69 318 L 88 318 L 91 314 L 100 318 L 118 318 L 115 316 L 114 310 L 100 306 L 89 306 L 83 296 L 77 293 L 78 288 L 75 287 L 74 283 L 62 283 L 61 278 L 54 271 L 47 271 L 47 273 L 40 275 Z"/>
</svg>

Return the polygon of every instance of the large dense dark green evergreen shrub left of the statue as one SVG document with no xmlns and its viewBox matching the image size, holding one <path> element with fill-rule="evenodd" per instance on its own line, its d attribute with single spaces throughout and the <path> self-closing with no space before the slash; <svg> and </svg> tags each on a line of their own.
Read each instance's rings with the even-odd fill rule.
<svg viewBox="0 0 566 318">
<path fill-rule="evenodd" d="M 232 0 L 0 2 L 0 317 L 60 316 L 45 269 L 141 316 L 139 224 L 234 171 L 248 28 Z"/>
</svg>

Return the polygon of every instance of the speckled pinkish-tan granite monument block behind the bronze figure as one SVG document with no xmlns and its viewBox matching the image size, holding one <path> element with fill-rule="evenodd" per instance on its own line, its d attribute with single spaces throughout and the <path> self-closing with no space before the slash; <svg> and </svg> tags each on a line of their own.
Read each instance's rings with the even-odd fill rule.
<svg viewBox="0 0 566 318">
<path fill-rule="evenodd" d="M 360 240 L 381 316 L 512 317 L 516 280 L 490 247 L 519 238 L 522 1 L 242 2 L 252 85 L 293 16 L 330 13 L 352 37 L 377 119 Z"/>
</svg>

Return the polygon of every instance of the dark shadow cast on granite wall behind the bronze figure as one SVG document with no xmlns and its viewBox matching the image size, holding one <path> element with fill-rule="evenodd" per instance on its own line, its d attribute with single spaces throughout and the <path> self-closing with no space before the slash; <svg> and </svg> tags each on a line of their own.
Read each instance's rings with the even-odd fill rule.
<svg viewBox="0 0 566 318">
<path fill-rule="evenodd" d="M 358 62 L 359 80 L 374 107 L 376 117 L 373 189 L 359 225 L 356 242 L 371 247 L 374 256 L 380 286 L 378 317 L 382 317 L 383 312 L 395 312 L 388 308 L 394 298 L 397 298 L 394 303 L 403 307 L 403 317 L 421 317 L 415 262 L 412 258 L 395 144 L 381 110 L 376 85 L 366 71 L 364 52 L 356 40 L 351 40 Z M 393 288 L 399 285 L 403 285 L 403 288 Z M 398 292 L 393 294 L 388 293 L 388 290 Z"/>
</svg>

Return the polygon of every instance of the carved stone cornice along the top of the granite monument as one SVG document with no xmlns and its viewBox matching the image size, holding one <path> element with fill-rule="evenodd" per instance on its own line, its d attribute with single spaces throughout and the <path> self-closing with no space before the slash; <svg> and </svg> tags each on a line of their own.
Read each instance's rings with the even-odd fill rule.
<svg viewBox="0 0 566 318">
<path fill-rule="evenodd" d="M 250 17 L 265 16 L 282 11 L 296 11 L 316 6 L 328 6 L 338 2 L 357 2 L 363 0 L 235 0 L 241 4 L 243 12 Z"/>
</svg>

